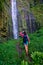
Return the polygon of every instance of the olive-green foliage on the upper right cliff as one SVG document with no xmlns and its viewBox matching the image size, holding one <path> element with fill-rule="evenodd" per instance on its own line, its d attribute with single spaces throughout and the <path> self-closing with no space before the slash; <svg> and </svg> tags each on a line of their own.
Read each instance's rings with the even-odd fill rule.
<svg viewBox="0 0 43 65">
<path fill-rule="evenodd" d="M 43 4 L 37 4 L 31 8 L 31 11 L 36 18 L 36 22 L 39 22 L 43 26 Z"/>
</svg>

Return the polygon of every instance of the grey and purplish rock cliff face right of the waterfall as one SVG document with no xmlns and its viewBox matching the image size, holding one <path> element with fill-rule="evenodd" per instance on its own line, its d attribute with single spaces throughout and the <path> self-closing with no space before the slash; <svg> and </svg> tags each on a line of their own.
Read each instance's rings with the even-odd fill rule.
<svg viewBox="0 0 43 65">
<path fill-rule="evenodd" d="M 29 0 L 17 0 L 17 8 L 19 30 L 25 29 L 26 32 L 32 33 L 35 31 L 36 26 L 35 18 L 30 11 L 30 2 Z"/>
</svg>

